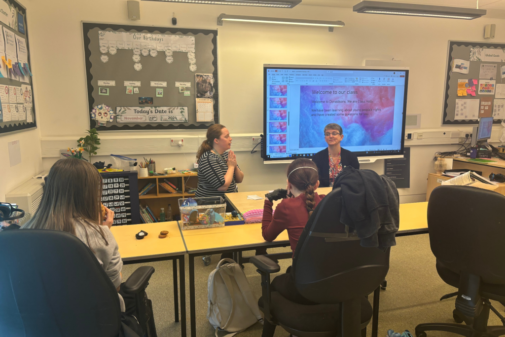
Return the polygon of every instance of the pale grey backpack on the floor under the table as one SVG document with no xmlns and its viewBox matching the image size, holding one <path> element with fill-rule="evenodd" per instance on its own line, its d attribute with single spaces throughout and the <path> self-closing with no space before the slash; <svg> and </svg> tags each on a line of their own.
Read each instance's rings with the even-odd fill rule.
<svg viewBox="0 0 505 337">
<path fill-rule="evenodd" d="M 256 322 L 263 322 L 258 300 L 252 294 L 247 278 L 232 259 L 219 261 L 207 283 L 207 319 L 216 329 L 233 332 L 232 337 Z"/>
</svg>

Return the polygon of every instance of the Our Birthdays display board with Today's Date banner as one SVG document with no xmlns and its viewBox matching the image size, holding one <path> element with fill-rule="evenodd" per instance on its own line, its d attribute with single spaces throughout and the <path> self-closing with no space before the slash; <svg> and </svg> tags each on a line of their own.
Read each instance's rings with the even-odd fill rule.
<svg viewBox="0 0 505 337">
<path fill-rule="evenodd" d="M 82 28 L 91 128 L 219 123 L 217 30 L 89 22 Z"/>
</svg>

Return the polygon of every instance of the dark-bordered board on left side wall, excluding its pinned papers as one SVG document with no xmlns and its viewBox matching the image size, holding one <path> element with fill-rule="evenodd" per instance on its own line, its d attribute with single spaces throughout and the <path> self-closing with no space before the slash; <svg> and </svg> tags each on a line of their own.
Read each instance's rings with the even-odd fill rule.
<svg viewBox="0 0 505 337">
<path fill-rule="evenodd" d="M 26 63 L 28 63 L 28 67 L 30 72 L 25 74 L 27 71 L 26 69 L 22 69 L 23 75 L 25 75 L 25 81 L 26 82 L 21 82 L 20 80 L 14 79 L 14 78 L 9 78 L 9 77 L 4 77 L 0 78 L 0 85 L 9 85 L 9 86 L 14 86 L 14 87 L 22 87 L 25 86 L 27 89 L 27 95 L 26 95 L 26 104 L 25 103 L 16 103 L 16 107 L 19 109 L 18 113 L 18 120 L 12 120 L 4 122 L 4 113 L 0 112 L 0 134 L 6 133 L 6 132 L 12 132 L 12 131 L 20 131 L 20 130 L 27 130 L 31 128 L 36 128 L 37 127 L 37 122 L 36 122 L 36 116 L 35 116 L 35 104 L 34 104 L 34 93 L 33 93 L 33 81 L 31 77 L 31 61 L 30 61 L 30 43 L 28 41 L 28 23 L 27 23 L 27 18 L 26 18 L 26 9 L 19 3 L 17 3 L 14 0 L 0 0 L 4 3 L 6 3 L 8 6 L 10 6 L 10 13 L 9 14 L 9 24 L 0 22 L 0 29 L 3 27 L 6 27 L 9 31 L 13 32 L 15 35 L 23 37 L 26 41 L 26 53 L 27 53 L 27 60 Z M 5 13 L 2 13 L 5 14 Z M 4 41 L 5 43 L 5 41 Z M 5 53 L 5 50 L 3 51 Z M 17 55 L 16 55 L 17 56 Z M 6 59 L 8 59 L 6 57 Z M 7 70 L 7 65 L 3 62 L 0 61 L 0 66 L 3 68 L 3 70 Z M 4 71 L 2 73 L 4 73 Z M 11 72 L 11 70 L 7 70 L 7 72 Z M 14 72 L 13 72 L 14 73 Z M 19 78 L 19 76 L 17 76 Z M 6 104 L 6 102 L 2 102 Z M 10 103 L 10 102 L 7 102 Z M 12 104 L 10 104 L 12 106 Z M 29 108 L 29 109 L 27 109 Z M 9 107 L 10 109 L 10 107 Z M 12 114 L 11 114 L 12 116 Z M 20 119 L 23 118 L 23 119 Z"/>
</svg>

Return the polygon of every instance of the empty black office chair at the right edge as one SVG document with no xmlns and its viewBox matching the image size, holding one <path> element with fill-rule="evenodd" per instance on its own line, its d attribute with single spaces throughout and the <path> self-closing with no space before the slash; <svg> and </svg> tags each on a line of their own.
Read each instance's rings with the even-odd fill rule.
<svg viewBox="0 0 505 337">
<path fill-rule="evenodd" d="M 481 188 L 439 186 L 431 192 L 431 251 L 436 257 L 438 275 L 458 288 L 458 293 L 442 299 L 457 296 L 452 315 L 458 323 L 466 324 L 419 324 L 418 337 L 426 337 L 426 331 L 432 330 L 467 337 L 505 334 L 505 326 L 487 326 L 489 309 L 494 309 L 489 300 L 505 305 L 504 209 L 505 196 Z"/>
</svg>

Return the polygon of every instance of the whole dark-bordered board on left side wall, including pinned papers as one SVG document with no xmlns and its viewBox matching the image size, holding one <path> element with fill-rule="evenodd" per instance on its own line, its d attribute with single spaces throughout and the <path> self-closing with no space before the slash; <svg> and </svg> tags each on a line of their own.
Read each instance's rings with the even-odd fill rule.
<svg viewBox="0 0 505 337">
<path fill-rule="evenodd" d="M 26 9 L 0 0 L 0 134 L 36 127 Z"/>
</svg>

